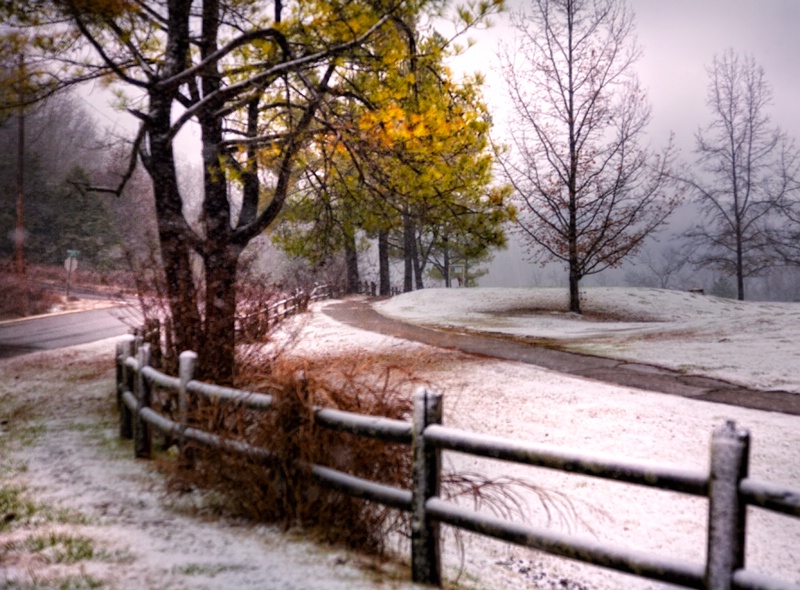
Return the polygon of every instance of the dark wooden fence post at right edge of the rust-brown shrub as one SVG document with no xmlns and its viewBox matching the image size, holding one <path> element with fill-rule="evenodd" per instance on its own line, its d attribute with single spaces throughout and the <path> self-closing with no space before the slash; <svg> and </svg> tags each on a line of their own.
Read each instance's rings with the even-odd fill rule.
<svg viewBox="0 0 800 590">
<path fill-rule="evenodd" d="M 425 444 L 425 428 L 442 423 L 442 394 L 420 388 L 414 395 L 411 512 L 411 575 L 414 582 L 441 585 L 439 523 L 428 518 L 425 502 L 439 495 L 438 447 Z"/>
</svg>

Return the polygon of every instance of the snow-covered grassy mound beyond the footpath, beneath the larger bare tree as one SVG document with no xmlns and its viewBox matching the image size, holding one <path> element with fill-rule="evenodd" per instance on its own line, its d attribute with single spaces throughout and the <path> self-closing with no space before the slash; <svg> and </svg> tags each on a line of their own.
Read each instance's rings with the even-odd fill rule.
<svg viewBox="0 0 800 590">
<path fill-rule="evenodd" d="M 430 327 L 553 340 L 566 350 L 648 363 L 756 389 L 800 393 L 800 303 L 744 302 L 619 287 L 424 289 L 375 306 Z"/>
</svg>

